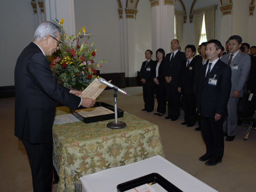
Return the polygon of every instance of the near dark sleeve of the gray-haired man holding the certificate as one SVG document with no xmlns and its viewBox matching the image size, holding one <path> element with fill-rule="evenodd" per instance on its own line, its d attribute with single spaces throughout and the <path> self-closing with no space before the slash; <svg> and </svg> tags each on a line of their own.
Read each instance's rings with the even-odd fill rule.
<svg viewBox="0 0 256 192">
<path fill-rule="evenodd" d="M 68 93 L 67 89 L 62 88 L 56 83 L 49 63 L 43 54 L 37 53 L 31 57 L 28 61 L 27 72 L 28 76 L 42 92 L 73 110 L 77 109 L 81 98 Z"/>
</svg>

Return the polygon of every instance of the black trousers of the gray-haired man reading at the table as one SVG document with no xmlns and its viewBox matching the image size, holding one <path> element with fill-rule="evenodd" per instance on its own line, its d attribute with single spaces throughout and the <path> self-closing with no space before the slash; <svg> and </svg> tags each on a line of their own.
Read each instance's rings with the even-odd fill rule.
<svg viewBox="0 0 256 192">
<path fill-rule="evenodd" d="M 53 144 L 31 144 L 24 139 L 22 139 L 22 143 L 26 149 L 31 167 L 33 191 L 51 192 L 53 177 Z"/>
</svg>

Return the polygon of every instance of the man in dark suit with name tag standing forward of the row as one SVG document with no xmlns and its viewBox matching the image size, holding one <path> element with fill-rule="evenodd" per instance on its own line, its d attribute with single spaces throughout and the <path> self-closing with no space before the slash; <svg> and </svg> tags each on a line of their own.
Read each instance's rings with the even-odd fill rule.
<svg viewBox="0 0 256 192">
<path fill-rule="evenodd" d="M 223 119 L 228 115 L 228 98 L 231 89 L 231 68 L 218 58 L 222 44 L 215 39 L 207 42 L 209 63 L 200 71 L 197 112 L 206 153 L 200 156 L 205 165 L 216 165 L 224 154 Z"/>
</svg>

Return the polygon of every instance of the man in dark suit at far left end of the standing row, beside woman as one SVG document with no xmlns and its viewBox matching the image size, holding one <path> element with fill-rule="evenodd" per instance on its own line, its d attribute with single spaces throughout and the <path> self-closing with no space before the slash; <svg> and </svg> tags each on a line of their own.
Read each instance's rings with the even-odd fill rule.
<svg viewBox="0 0 256 192">
<path fill-rule="evenodd" d="M 153 84 L 153 73 L 152 68 L 154 61 L 152 58 L 152 50 L 145 51 L 145 60 L 140 68 L 141 81 L 143 83 L 143 100 L 144 109 L 143 111 L 153 112 L 154 110 L 154 84 Z"/>
</svg>

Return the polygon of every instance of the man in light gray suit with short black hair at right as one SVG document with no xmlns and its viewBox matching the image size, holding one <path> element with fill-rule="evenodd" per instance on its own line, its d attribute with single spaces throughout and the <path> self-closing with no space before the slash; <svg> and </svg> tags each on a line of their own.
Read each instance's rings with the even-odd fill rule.
<svg viewBox="0 0 256 192">
<path fill-rule="evenodd" d="M 222 61 L 232 69 L 232 88 L 228 100 L 228 117 L 224 121 L 223 131 L 227 133 L 228 142 L 232 142 L 237 134 L 237 106 L 240 97 L 243 97 L 243 88 L 250 72 L 250 57 L 239 51 L 242 46 L 240 36 L 231 36 L 228 39 L 229 54 L 222 57 Z"/>
</svg>

